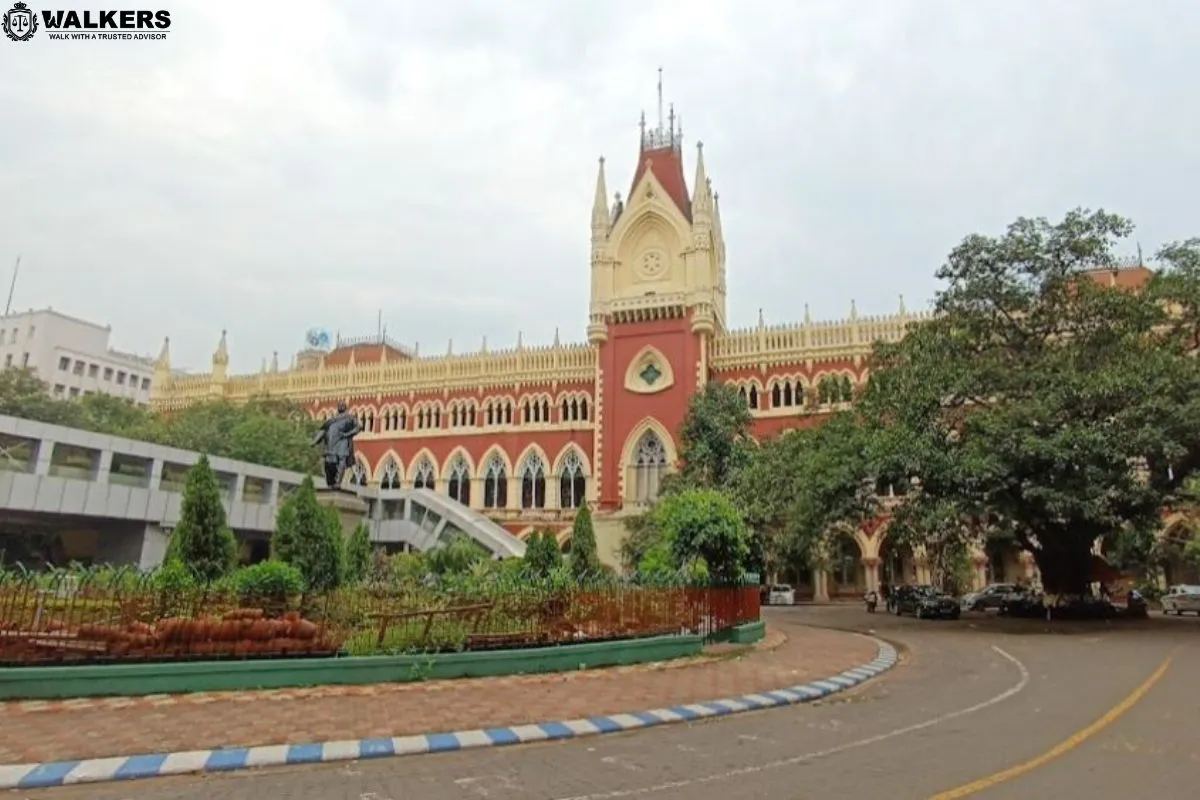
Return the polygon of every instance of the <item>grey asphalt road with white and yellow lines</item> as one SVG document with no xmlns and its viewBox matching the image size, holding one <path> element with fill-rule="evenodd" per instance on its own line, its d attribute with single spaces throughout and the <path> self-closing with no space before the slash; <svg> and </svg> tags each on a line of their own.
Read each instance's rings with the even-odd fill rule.
<svg viewBox="0 0 1200 800">
<path fill-rule="evenodd" d="M 847 606 L 779 609 L 769 619 L 784 630 L 811 624 L 874 632 L 895 643 L 902 661 L 882 678 L 821 704 L 628 734 L 8 796 L 1183 800 L 1198 794 L 1196 618 L 950 622 L 872 615 Z M 1156 674 L 1159 680 L 1147 685 Z M 1130 699 L 1139 687 L 1141 694 Z M 1114 711 L 1122 703 L 1124 712 Z M 948 793 L 964 786 L 971 788 Z"/>
</svg>

